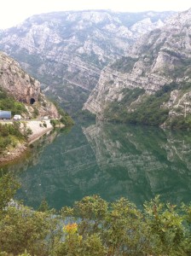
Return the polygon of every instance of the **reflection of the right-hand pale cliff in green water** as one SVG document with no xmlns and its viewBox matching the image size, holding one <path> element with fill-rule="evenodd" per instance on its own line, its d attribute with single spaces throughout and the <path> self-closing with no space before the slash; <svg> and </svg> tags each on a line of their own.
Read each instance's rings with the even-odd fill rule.
<svg viewBox="0 0 191 256">
<path fill-rule="evenodd" d="M 168 201 L 190 201 L 191 137 L 136 125 L 98 123 L 83 129 L 111 195 L 137 204 L 160 194 Z M 107 173 L 107 174 L 106 174 Z M 115 181 L 111 186 L 111 180 Z"/>
</svg>

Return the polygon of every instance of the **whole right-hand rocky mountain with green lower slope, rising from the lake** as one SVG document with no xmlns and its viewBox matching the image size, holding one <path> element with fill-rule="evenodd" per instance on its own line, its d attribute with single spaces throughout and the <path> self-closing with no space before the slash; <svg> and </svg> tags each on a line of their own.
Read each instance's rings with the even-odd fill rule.
<svg viewBox="0 0 191 256">
<path fill-rule="evenodd" d="M 147 123 L 143 111 L 151 114 L 152 109 L 148 113 L 147 108 L 155 101 L 165 114 L 159 125 L 183 117 L 190 123 L 190 99 L 191 9 L 188 9 L 172 15 L 165 26 L 136 41 L 128 55 L 105 67 L 84 108 L 100 118 Z M 119 112 L 123 112 L 123 118 Z M 142 116 L 138 117 L 138 112 Z"/>
</svg>

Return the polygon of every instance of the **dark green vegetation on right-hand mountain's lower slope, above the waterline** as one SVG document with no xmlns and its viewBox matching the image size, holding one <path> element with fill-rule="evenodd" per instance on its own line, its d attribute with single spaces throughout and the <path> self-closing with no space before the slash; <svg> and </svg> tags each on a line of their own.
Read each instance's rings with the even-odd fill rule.
<svg viewBox="0 0 191 256">
<path fill-rule="evenodd" d="M 145 125 L 161 125 L 168 118 L 169 109 L 163 108 L 163 103 L 170 99 L 171 90 L 175 90 L 177 84 L 167 84 L 155 94 L 145 96 L 142 102 L 136 104 L 133 111 L 128 112 L 131 102 L 143 94 L 141 89 L 129 90 L 121 102 L 112 102 L 105 110 L 104 116 L 111 121 L 142 123 Z"/>
</svg>

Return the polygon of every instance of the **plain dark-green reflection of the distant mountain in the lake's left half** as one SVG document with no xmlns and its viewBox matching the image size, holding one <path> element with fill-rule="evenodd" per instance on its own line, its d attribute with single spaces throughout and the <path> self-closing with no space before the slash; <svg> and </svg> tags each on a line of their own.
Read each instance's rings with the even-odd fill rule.
<svg viewBox="0 0 191 256">
<path fill-rule="evenodd" d="M 55 141 L 44 148 L 38 164 L 21 175 L 22 188 L 18 199 L 38 207 L 44 198 L 51 207 L 72 205 L 91 189 L 97 176 L 96 158 L 81 127 L 60 132 Z M 96 190 L 96 193 L 98 193 Z M 90 192 L 91 193 L 91 192 Z"/>
</svg>

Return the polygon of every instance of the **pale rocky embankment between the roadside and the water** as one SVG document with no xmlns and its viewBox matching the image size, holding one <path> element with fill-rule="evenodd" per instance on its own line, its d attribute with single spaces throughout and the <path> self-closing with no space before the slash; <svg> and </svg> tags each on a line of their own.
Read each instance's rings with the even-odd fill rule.
<svg viewBox="0 0 191 256">
<path fill-rule="evenodd" d="M 5 151 L 2 155 L 0 155 L 0 164 L 20 158 L 20 156 L 26 152 L 29 144 L 38 140 L 39 137 L 43 136 L 44 134 L 53 129 L 53 126 L 50 124 L 49 120 L 28 121 L 26 122 L 26 127 L 32 130 L 32 135 L 30 135 L 27 142 L 19 143 L 12 150 Z"/>
</svg>

